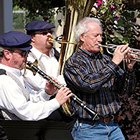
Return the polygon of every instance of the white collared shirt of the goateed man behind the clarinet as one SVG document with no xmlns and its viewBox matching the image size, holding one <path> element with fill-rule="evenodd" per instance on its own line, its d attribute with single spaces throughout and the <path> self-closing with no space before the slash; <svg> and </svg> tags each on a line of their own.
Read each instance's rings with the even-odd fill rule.
<svg viewBox="0 0 140 140">
<path fill-rule="evenodd" d="M 52 49 L 50 52 L 50 55 L 47 56 L 40 51 L 38 51 L 36 48 L 32 48 L 31 53 L 28 56 L 28 61 L 34 62 L 35 60 L 38 61 L 38 68 L 43 71 L 48 76 L 52 76 L 54 78 L 57 78 L 57 80 L 65 85 L 65 81 L 62 75 L 58 75 L 58 67 L 59 63 L 57 59 L 54 56 L 54 50 Z M 46 84 L 46 79 L 42 78 L 38 73 L 34 76 L 33 73 L 30 70 L 26 70 L 26 74 L 24 76 L 25 81 L 29 84 L 29 86 L 38 91 L 40 89 L 44 89 Z M 50 96 L 48 95 L 48 98 Z"/>
</svg>

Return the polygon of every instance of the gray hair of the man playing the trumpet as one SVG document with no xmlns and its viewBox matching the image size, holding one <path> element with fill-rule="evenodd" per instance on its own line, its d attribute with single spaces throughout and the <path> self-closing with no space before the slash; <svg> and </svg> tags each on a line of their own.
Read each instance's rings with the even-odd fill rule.
<svg viewBox="0 0 140 140">
<path fill-rule="evenodd" d="M 78 43 L 80 42 L 80 35 L 84 34 L 88 31 L 87 29 L 87 23 L 89 22 L 96 22 L 101 28 L 102 24 L 98 18 L 93 17 L 84 17 L 82 20 L 78 22 L 78 24 L 75 26 L 74 34 L 75 34 L 75 41 Z"/>
</svg>

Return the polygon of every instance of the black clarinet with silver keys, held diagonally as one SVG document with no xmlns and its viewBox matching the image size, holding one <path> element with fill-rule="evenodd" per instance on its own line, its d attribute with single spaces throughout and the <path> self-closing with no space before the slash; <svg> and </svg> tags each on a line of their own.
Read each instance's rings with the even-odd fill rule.
<svg viewBox="0 0 140 140">
<path fill-rule="evenodd" d="M 48 80 L 52 85 L 54 85 L 55 87 L 57 87 L 58 89 L 60 89 L 63 85 L 58 84 L 57 82 L 55 82 L 49 75 L 47 75 L 46 73 L 44 73 L 42 70 L 40 70 L 37 66 L 35 66 L 32 62 L 27 61 L 26 64 L 35 72 L 39 73 L 43 78 L 45 78 L 46 80 Z M 88 108 L 86 106 L 86 104 L 80 99 L 78 98 L 74 93 L 72 93 L 73 95 L 71 96 L 71 99 L 74 100 L 78 105 L 80 105 L 94 120 L 98 114 L 91 110 L 90 108 Z"/>
</svg>

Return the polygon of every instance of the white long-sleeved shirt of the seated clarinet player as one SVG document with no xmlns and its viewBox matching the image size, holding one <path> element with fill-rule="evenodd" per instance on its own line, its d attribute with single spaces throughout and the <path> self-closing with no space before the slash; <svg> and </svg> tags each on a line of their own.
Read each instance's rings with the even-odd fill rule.
<svg viewBox="0 0 140 140">
<path fill-rule="evenodd" d="M 5 69 L 13 75 L 16 80 L 8 75 L 0 75 L 0 108 L 7 109 L 22 120 L 40 120 L 48 117 L 54 110 L 60 107 L 54 98 L 48 100 L 47 94 L 40 90 L 40 94 L 31 90 L 24 94 L 25 83 L 21 71 L 15 68 L 0 64 L 0 69 Z M 18 84 L 16 81 L 19 81 Z M 20 85 L 21 84 L 21 85 Z M 27 87 L 27 89 L 29 89 Z"/>
</svg>

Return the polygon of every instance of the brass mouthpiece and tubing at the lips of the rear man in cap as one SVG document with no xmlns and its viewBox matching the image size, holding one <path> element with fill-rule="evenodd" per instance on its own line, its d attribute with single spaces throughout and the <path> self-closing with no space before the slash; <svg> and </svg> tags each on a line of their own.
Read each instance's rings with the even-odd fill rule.
<svg viewBox="0 0 140 140">
<path fill-rule="evenodd" d="M 70 42 L 70 41 L 65 41 L 65 40 L 62 40 L 62 37 L 56 37 L 56 38 L 52 38 L 52 37 L 49 37 L 47 39 L 47 41 L 53 43 L 53 42 L 57 42 L 59 44 L 73 44 L 73 45 L 76 45 L 77 43 L 75 42 Z"/>
</svg>

